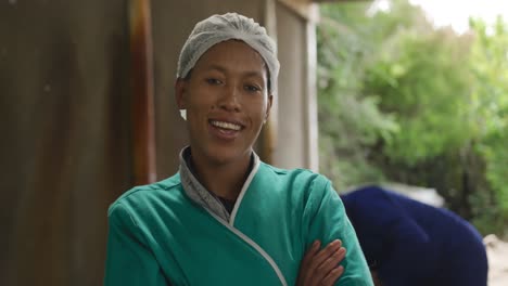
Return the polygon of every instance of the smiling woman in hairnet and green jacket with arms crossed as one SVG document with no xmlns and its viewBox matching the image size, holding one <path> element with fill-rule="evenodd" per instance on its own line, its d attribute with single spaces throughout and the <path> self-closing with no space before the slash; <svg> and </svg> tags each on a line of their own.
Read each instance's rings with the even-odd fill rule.
<svg viewBox="0 0 508 286">
<path fill-rule="evenodd" d="M 330 182 L 253 151 L 276 92 L 276 53 L 252 18 L 196 24 L 175 84 L 190 145 L 177 174 L 111 206 L 105 285 L 372 285 Z"/>
</svg>

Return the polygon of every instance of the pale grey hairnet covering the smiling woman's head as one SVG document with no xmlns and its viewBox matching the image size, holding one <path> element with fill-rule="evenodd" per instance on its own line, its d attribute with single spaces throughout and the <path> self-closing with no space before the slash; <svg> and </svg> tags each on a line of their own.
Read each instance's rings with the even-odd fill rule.
<svg viewBox="0 0 508 286">
<path fill-rule="evenodd" d="M 237 13 L 213 15 L 198 23 L 187 39 L 178 60 L 178 78 L 186 78 L 198 60 L 214 44 L 227 40 L 242 40 L 256 50 L 268 67 L 271 94 L 277 93 L 279 60 L 274 40 L 266 29 L 252 18 Z"/>
</svg>

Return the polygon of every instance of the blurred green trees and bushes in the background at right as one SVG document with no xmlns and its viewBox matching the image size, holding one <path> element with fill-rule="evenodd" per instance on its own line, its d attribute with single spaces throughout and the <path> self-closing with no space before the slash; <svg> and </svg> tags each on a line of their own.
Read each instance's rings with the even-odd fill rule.
<svg viewBox="0 0 508 286">
<path fill-rule="evenodd" d="M 320 170 L 435 188 L 483 234 L 508 235 L 508 23 L 436 28 L 407 0 L 320 5 Z M 452 13 L 452 12 L 450 12 Z"/>
</svg>

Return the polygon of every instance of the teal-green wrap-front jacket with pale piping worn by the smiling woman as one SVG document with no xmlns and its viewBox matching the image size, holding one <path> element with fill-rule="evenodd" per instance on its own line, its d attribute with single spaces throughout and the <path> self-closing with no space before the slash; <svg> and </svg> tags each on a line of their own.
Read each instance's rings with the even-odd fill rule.
<svg viewBox="0 0 508 286">
<path fill-rule="evenodd" d="M 110 207 L 106 286 L 294 285 L 309 245 L 335 238 L 347 249 L 336 285 L 372 285 L 342 202 L 325 177 L 277 169 L 254 155 L 229 213 L 182 157 L 177 174 L 135 187 Z"/>
</svg>

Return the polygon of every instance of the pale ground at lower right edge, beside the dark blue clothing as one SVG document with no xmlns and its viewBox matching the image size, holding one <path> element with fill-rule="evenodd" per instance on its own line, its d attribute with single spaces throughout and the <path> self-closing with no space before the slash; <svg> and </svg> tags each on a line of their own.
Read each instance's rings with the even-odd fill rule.
<svg viewBox="0 0 508 286">
<path fill-rule="evenodd" d="M 483 242 L 488 257 L 488 286 L 508 285 L 508 243 L 493 234 Z"/>
</svg>

